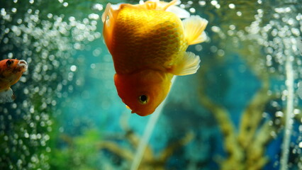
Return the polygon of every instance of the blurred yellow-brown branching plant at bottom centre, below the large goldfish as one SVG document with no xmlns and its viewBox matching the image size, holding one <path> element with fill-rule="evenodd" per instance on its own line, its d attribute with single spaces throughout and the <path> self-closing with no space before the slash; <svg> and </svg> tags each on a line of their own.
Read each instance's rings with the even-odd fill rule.
<svg viewBox="0 0 302 170">
<path fill-rule="evenodd" d="M 138 135 L 133 132 L 133 130 L 128 125 L 128 119 L 124 116 L 121 117 L 121 128 L 124 131 L 125 135 L 122 135 L 121 139 L 126 140 L 130 147 L 123 147 L 123 145 L 119 145 L 117 142 L 105 140 L 99 142 L 99 149 L 105 149 L 109 152 L 118 155 L 118 157 L 121 157 L 124 161 L 127 162 L 125 166 L 123 166 L 125 169 L 129 169 L 130 167 L 133 168 L 133 162 L 135 162 L 134 159 L 138 159 L 138 157 L 135 157 L 135 149 L 139 148 L 140 141 L 142 140 L 141 137 L 138 137 Z M 194 133 L 188 132 L 184 137 L 179 139 L 178 141 L 169 143 L 167 147 L 164 147 L 162 151 L 160 151 L 158 154 L 155 154 L 152 151 L 152 147 L 150 145 L 147 145 L 145 143 L 145 148 L 142 151 L 142 155 L 140 156 L 140 162 L 138 162 L 137 167 L 135 169 L 166 169 L 167 160 L 169 157 L 172 156 L 172 154 L 180 149 L 180 147 L 184 147 L 184 145 L 187 145 L 191 140 L 194 139 Z M 111 139 L 111 140 L 114 140 Z M 118 138 L 116 138 L 118 140 Z M 131 166 L 130 166 L 131 165 Z"/>
</svg>

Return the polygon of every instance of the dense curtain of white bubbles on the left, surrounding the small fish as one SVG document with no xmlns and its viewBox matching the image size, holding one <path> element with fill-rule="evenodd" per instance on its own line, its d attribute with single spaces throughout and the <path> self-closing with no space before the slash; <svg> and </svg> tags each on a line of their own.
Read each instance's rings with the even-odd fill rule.
<svg viewBox="0 0 302 170">
<path fill-rule="evenodd" d="M 27 3 L 14 0 L 0 8 L 1 59 L 23 59 L 29 65 L 20 82 L 12 86 L 16 101 L 0 106 L 0 169 L 50 169 L 50 134 L 55 116 L 62 112 L 56 106 L 82 81 L 74 74 L 78 63 L 71 56 L 101 37 L 96 13 L 79 20 L 40 11 L 41 1 Z M 53 3 L 62 4 L 61 12 L 70 5 Z"/>
</svg>

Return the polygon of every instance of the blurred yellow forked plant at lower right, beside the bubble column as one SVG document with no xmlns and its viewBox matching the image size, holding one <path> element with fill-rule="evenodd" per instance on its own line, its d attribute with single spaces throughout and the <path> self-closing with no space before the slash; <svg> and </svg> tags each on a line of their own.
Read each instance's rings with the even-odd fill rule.
<svg viewBox="0 0 302 170">
<path fill-rule="evenodd" d="M 201 77 L 205 77 L 204 74 L 209 69 L 204 68 L 203 71 L 200 73 Z M 267 134 L 278 132 L 278 128 L 269 125 L 269 121 L 266 121 L 258 129 L 264 108 L 271 99 L 267 97 L 266 88 L 267 86 L 264 86 L 262 89 L 259 89 L 259 92 L 248 103 L 245 111 L 242 112 L 240 130 L 237 134 L 235 125 L 229 118 L 230 113 L 228 110 L 213 102 L 206 95 L 206 87 L 200 86 L 199 95 L 201 104 L 215 115 L 225 139 L 223 145 L 225 151 L 228 153 L 228 157 L 217 160 L 221 169 L 262 169 L 267 164 L 268 158 L 264 157 L 264 148 L 270 140 L 274 139 Z"/>
</svg>

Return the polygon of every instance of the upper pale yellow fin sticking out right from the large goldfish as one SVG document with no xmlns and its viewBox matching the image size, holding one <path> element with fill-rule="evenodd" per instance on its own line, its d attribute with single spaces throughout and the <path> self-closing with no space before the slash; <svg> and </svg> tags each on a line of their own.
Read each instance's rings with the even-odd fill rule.
<svg viewBox="0 0 302 170">
<path fill-rule="evenodd" d="M 188 45 L 198 44 L 206 40 L 204 29 L 208 21 L 200 16 L 190 16 L 182 21 L 184 24 L 184 35 Z"/>
</svg>

